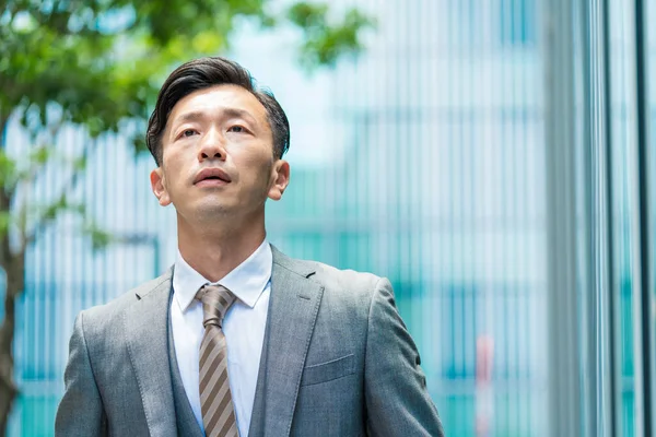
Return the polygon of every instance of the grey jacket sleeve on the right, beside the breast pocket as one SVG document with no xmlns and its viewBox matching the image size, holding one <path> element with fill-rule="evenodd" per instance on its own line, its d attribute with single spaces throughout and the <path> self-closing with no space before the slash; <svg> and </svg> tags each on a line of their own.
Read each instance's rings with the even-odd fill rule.
<svg viewBox="0 0 656 437">
<path fill-rule="evenodd" d="M 419 364 L 417 346 L 397 311 L 391 284 L 380 279 L 371 302 L 366 338 L 364 383 L 370 435 L 444 436 Z"/>
</svg>

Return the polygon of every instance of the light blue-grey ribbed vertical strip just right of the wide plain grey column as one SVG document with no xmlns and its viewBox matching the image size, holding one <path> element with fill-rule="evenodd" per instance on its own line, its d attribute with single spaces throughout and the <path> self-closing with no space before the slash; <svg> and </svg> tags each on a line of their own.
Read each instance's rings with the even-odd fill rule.
<svg viewBox="0 0 656 437">
<path fill-rule="evenodd" d="M 587 0 L 581 16 L 583 36 L 583 91 L 585 113 L 583 166 L 585 168 L 584 257 L 586 284 L 581 290 L 585 314 L 587 356 L 582 371 L 586 381 L 586 433 L 614 436 L 617 385 L 614 371 L 612 246 L 612 123 L 609 5 Z"/>
</svg>

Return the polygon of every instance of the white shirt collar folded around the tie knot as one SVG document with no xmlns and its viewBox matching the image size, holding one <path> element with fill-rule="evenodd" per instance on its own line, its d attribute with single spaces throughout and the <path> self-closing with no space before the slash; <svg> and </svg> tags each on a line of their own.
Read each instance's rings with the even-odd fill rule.
<svg viewBox="0 0 656 437">
<path fill-rule="evenodd" d="M 250 257 L 215 284 L 223 285 L 239 300 L 253 308 L 271 280 L 272 267 L 273 253 L 271 246 L 265 239 Z M 184 312 L 194 302 L 198 290 L 204 284 L 209 284 L 210 281 L 194 270 L 183 259 L 179 250 L 173 272 L 173 295 Z"/>
</svg>

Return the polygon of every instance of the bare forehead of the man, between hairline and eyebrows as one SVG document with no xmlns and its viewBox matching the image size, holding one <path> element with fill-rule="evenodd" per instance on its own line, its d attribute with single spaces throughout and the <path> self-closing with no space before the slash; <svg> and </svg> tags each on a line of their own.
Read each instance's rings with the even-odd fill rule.
<svg viewBox="0 0 656 437">
<path fill-rule="evenodd" d="M 195 91 L 180 98 L 173 107 L 167 125 L 175 122 L 176 119 L 188 113 L 219 116 L 230 109 L 245 111 L 257 122 L 267 123 L 266 108 L 248 90 L 238 85 L 214 85 Z"/>
</svg>

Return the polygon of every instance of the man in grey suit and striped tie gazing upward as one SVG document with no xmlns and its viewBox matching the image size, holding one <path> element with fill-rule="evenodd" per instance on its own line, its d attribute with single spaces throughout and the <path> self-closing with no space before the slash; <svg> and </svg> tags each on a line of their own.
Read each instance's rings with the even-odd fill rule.
<svg viewBox="0 0 656 437">
<path fill-rule="evenodd" d="M 147 141 L 177 258 L 78 316 L 58 436 L 443 435 L 389 282 L 267 243 L 289 140 L 276 98 L 237 63 L 168 76 Z"/>
</svg>

